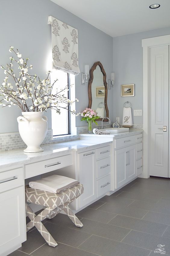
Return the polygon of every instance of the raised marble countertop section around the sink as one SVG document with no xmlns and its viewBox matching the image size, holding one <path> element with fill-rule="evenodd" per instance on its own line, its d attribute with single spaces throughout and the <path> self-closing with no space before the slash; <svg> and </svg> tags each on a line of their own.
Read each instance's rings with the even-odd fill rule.
<svg viewBox="0 0 170 256">
<path fill-rule="evenodd" d="M 80 139 L 83 139 L 83 137 L 89 137 L 89 136 L 93 137 L 93 139 L 97 137 L 105 137 L 105 138 L 111 137 L 111 138 L 117 139 L 117 138 L 124 138 L 132 135 L 137 135 L 137 134 L 140 134 L 141 132 L 143 132 L 142 129 L 130 129 L 127 132 L 99 134 L 99 135 L 94 133 L 91 133 L 91 134 L 83 133 L 83 134 L 80 134 Z"/>
</svg>

